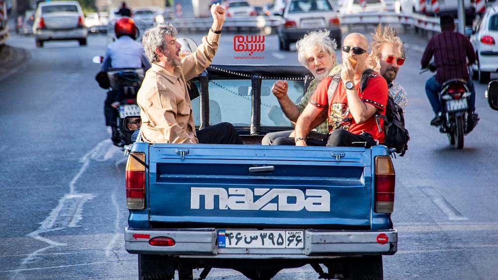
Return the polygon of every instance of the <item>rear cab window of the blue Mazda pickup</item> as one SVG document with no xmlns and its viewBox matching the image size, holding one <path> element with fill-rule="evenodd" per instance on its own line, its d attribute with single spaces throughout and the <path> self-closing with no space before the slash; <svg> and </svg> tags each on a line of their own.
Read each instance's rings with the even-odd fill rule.
<svg viewBox="0 0 498 280">
<path fill-rule="evenodd" d="M 271 93 L 276 80 L 261 81 L 261 127 L 290 127 L 277 98 Z M 200 89 L 199 82 L 193 82 Z M 299 103 L 304 93 L 303 81 L 287 81 L 289 98 Z M 248 127 L 251 122 L 252 96 L 251 80 L 209 81 L 209 124 L 230 122 L 234 126 Z M 194 121 L 200 125 L 200 98 L 192 100 Z"/>
</svg>

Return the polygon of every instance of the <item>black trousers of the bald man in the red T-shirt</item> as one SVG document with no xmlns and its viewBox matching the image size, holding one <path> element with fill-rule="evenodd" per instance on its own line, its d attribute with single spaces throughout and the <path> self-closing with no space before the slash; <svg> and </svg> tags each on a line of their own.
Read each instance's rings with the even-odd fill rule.
<svg viewBox="0 0 498 280">
<path fill-rule="evenodd" d="M 295 145 L 294 138 L 280 137 L 273 141 L 272 145 Z M 336 129 L 332 131 L 328 138 L 323 140 L 306 139 L 308 146 L 328 146 L 328 147 L 365 147 L 370 148 L 377 145 L 370 133 L 353 134 L 346 129 Z"/>
</svg>

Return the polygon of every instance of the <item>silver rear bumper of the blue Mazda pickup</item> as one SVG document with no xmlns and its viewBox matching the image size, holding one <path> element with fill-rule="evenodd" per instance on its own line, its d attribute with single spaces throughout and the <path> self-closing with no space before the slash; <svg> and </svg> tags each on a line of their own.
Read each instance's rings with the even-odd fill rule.
<svg viewBox="0 0 498 280">
<path fill-rule="evenodd" d="M 175 245 L 152 246 L 154 237 L 169 237 Z M 202 258 L 316 258 L 342 255 L 392 255 L 397 251 L 397 231 L 305 230 L 303 249 L 218 248 L 218 231 L 204 229 L 124 229 L 124 247 L 131 254 L 157 254 Z"/>
</svg>

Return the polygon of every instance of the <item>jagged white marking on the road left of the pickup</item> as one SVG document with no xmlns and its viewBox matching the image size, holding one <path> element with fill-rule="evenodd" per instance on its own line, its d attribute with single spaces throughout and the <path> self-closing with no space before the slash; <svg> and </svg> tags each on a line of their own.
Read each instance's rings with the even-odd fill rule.
<svg viewBox="0 0 498 280">
<path fill-rule="evenodd" d="M 36 269 L 25 269 L 24 266 L 32 261 L 35 261 L 37 254 L 39 254 L 40 252 L 43 252 L 45 250 L 57 246 L 66 246 L 66 244 L 59 243 L 50 240 L 48 238 L 42 237 L 41 234 L 54 230 L 63 229 L 66 227 L 77 226 L 78 221 L 82 219 L 83 204 L 87 200 L 92 199 L 95 195 L 91 193 L 78 193 L 76 191 L 75 185 L 82 176 L 82 174 L 88 169 L 91 160 L 106 161 L 116 153 L 115 148 L 117 147 L 111 144 L 111 140 L 107 139 L 101 141 L 93 149 L 91 149 L 88 153 L 86 153 L 83 157 L 81 157 L 80 163 L 82 163 L 82 166 L 80 170 L 76 173 L 76 175 L 73 177 L 71 182 L 69 183 L 69 192 L 64 194 L 64 196 L 61 197 L 61 199 L 59 199 L 59 203 L 57 204 L 57 206 L 54 209 L 52 209 L 52 211 L 45 218 L 45 220 L 43 220 L 43 222 L 40 223 L 41 224 L 40 227 L 37 230 L 27 234 L 28 237 L 45 242 L 48 244 L 48 246 L 36 250 L 31 254 L 27 255 L 27 257 L 22 260 L 18 269 L 12 271 L 5 271 L 5 272 L 13 272 L 14 273 L 13 279 L 24 279 L 22 275 L 18 274 L 19 272 L 36 270 Z M 110 150 L 114 151 L 110 152 Z M 104 155 L 104 157 L 102 157 L 102 155 Z M 60 266 L 60 267 L 70 267 L 70 266 L 73 265 Z M 51 267 L 51 268 L 58 268 L 58 267 Z M 38 269 L 46 269 L 46 268 L 38 268 Z"/>
</svg>

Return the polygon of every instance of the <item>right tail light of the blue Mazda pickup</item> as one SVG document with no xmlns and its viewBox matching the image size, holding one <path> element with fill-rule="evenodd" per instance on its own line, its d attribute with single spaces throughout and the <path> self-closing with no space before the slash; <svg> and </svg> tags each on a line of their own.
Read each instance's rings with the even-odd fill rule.
<svg viewBox="0 0 498 280">
<path fill-rule="evenodd" d="M 388 156 L 375 157 L 375 212 L 392 213 L 394 210 L 394 167 Z"/>
</svg>

